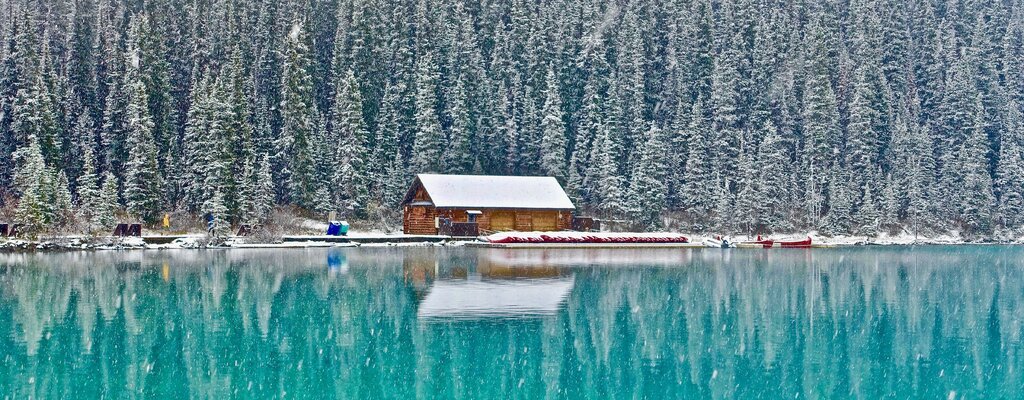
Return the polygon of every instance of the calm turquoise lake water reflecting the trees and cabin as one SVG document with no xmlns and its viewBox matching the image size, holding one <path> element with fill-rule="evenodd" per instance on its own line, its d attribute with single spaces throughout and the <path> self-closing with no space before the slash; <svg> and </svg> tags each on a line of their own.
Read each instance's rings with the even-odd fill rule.
<svg viewBox="0 0 1024 400">
<path fill-rule="evenodd" d="M 0 255 L 0 398 L 1020 398 L 1024 249 Z"/>
</svg>

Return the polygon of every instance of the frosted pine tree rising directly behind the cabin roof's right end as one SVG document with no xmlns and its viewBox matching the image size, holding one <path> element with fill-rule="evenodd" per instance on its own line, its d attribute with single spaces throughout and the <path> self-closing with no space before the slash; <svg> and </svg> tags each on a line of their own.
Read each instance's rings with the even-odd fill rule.
<svg viewBox="0 0 1024 400">
<path fill-rule="evenodd" d="M 565 181 L 565 123 L 562 121 L 562 99 L 555 71 L 548 69 L 547 98 L 544 101 L 544 136 L 541 138 L 541 171 L 544 175 Z"/>
</svg>

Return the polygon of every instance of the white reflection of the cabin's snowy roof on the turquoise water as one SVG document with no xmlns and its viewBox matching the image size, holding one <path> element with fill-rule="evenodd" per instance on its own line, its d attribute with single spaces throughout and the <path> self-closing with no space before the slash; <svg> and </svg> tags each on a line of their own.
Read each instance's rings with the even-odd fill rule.
<svg viewBox="0 0 1024 400">
<path fill-rule="evenodd" d="M 572 276 L 554 279 L 437 280 L 419 318 L 486 319 L 553 315 L 572 292 Z"/>
</svg>

